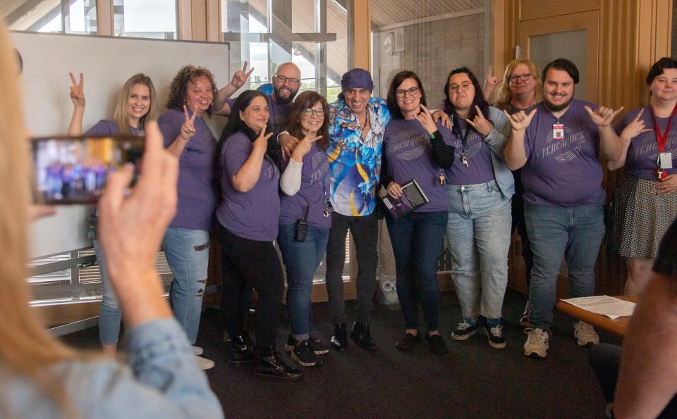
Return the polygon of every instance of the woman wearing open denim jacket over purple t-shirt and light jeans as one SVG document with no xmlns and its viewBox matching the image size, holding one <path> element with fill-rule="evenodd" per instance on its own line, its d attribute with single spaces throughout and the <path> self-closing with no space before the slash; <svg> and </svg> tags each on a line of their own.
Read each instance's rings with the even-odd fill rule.
<svg viewBox="0 0 677 419">
<path fill-rule="evenodd" d="M 501 309 L 508 284 L 511 197 L 515 181 L 503 161 L 510 124 L 484 101 L 480 82 L 468 68 L 452 70 L 445 111 L 452 116 L 456 160 L 446 171 L 454 287 L 463 313 L 451 339 L 465 340 L 482 326 L 489 345 L 506 347 Z"/>
</svg>

